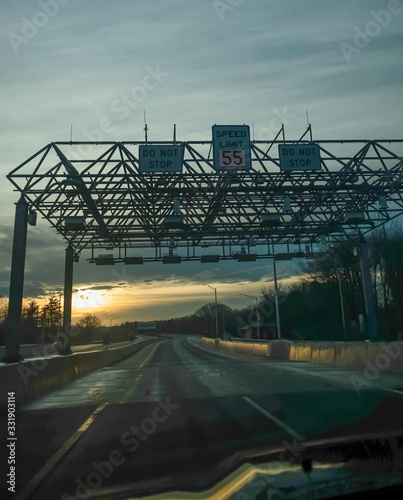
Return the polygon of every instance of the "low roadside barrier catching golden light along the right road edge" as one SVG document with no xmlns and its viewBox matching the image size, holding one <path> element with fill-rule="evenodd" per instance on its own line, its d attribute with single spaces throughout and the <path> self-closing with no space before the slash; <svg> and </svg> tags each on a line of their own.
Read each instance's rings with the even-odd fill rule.
<svg viewBox="0 0 403 500">
<path fill-rule="evenodd" d="M 205 344 L 231 352 L 289 361 L 308 361 L 350 368 L 373 368 L 403 374 L 403 342 L 293 342 L 267 343 L 202 338 Z M 246 339 L 245 339 L 246 340 Z"/>
</svg>

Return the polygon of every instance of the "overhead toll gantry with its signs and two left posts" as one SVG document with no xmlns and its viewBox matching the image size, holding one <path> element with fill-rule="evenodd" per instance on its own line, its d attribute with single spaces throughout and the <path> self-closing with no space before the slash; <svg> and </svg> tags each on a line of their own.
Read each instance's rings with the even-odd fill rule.
<svg viewBox="0 0 403 500">
<path fill-rule="evenodd" d="M 5 359 L 19 359 L 26 231 L 37 214 L 68 244 L 68 332 L 73 262 L 84 251 L 97 265 L 274 263 L 277 245 L 312 256 L 316 244 L 365 235 L 403 213 L 402 158 L 403 140 L 313 140 L 310 126 L 298 140 L 284 127 L 264 141 L 251 140 L 247 125 L 215 125 L 206 141 L 175 133 L 48 144 L 7 176 L 20 200 Z"/>
</svg>

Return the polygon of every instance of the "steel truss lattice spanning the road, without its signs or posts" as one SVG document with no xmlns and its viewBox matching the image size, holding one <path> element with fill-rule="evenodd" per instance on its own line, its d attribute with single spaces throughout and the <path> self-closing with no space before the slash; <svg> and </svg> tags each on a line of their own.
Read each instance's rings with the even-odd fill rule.
<svg viewBox="0 0 403 500">
<path fill-rule="evenodd" d="M 278 144 L 307 141 L 277 139 L 251 141 L 251 170 L 224 172 L 214 170 L 211 141 L 53 142 L 7 177 L 77 256 L 91 250 L 91 261 L 105 248 L 118 249 L 115 261 L 139 252 L 138 263 L 159 261 L 173 248 L 194 260 L 207 246 L 220 258 L 265 258 L 273 244 L 345 239 L 357 230 L 351 213 L 365 215 L 362 234 L 403 213 L 403 140 L 314 141 L 322 170 L 283 172 Z M 181 145 L 182 172 L 141 173 L 141 144 Z M 264 223 L 268 214 L 275 224 Z M 85 226 L 72 231 L 71 217 Z"/>
</svg>

